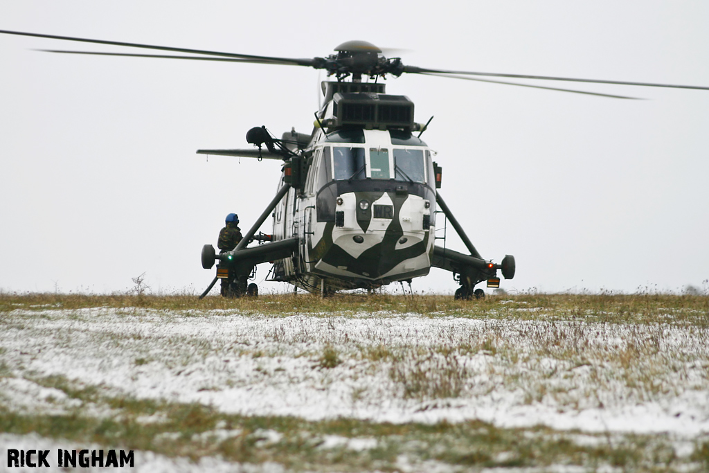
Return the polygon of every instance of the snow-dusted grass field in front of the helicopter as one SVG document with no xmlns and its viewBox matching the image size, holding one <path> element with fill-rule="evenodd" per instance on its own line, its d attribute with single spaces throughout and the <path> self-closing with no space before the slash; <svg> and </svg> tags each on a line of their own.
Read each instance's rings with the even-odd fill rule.
<svg viewBox="0 0 709 473">
<path fill-rule="evenodd" d="M 0 333 L 16 448 L 129 448 L 145 472 L 709 469 L 707 296 L 0 294 Z"/>
</svg>

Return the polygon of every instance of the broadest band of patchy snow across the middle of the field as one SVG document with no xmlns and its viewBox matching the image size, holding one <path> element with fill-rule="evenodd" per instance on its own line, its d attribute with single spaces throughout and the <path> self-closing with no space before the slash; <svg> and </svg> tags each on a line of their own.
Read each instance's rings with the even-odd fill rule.
<svg viewBox="0 0 709 473">
<path fill-rule="evenodd" d="M 0 378 L 0 404 L 75 408 L 62 391 L 29 380 L 62 375 L 116 395 L 245 415 L 709 432 L 706 328 L 325 315 L 12 311 L 0 340 L 12 377 Z M 320 365 L 325 347 L 339 365 Z M 367 356 L 376 350 L 396 357 Z"/>
</svg>

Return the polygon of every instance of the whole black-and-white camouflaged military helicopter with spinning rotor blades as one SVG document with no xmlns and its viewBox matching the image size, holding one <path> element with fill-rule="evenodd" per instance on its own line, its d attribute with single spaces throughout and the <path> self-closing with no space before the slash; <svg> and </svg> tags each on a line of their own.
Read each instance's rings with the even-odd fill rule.
<svg viewBox="0 0 709 473">
<path fill-rule="evenodd" d="M 291 130 L 278 139 L 265 126 L 257 126 L 246 135 L 252 148 L 197 151 L 282 162 L 276 195 L 240 243 L 219 255 L 212 245 L 203 246 L 203 268 L 211 269 L 217 261 L 218 265 L 216 277 L 201 298 L 219 279 L 226 280 L 229 296 L 257 295 L 256 285 L 248 284 L 248 280 L 256 265 L 264 262 L 272 263 L 269 281 L 288 282 L 323 296 L 340 290 L 376 289 L 393 282 L 411 282 L 428 274 L 431 267 L 453 274 L 459 283 L 456 299 L 483 297 L 484 291 L 475 286 L 484 281 L 488 287 L 499 287 L 498 270 L 505 279 L 514 277 L 515 258 L 506 255 L 500 263 L 484 259 L 443 200 L 438 190 L 442 168 L 433 161 L 435 152 L 420 139 L 430 120 L 416 123 L 414 104 L 407 96 L 386 94 L 385 84 L 379 79 L 386 79 L 387 75 L 428 74 L 617 99 L 632 97 L 482 77 L 709 90 L 709 87 L 675 84 L 428 69 L 404 65 L 399 57 L 386 58 L 381 49 L 365 41 L 342 43 L 335 48 L 335 54 L 327 57 L 298 59 L 7 30 L 0 33 L 193 56 L 47 52 L 294 65 L 325 69 L 329 77 L 336 78 L 322 83 L 325 99 L 315 113 L 311 133 Z M 362 82 L 363 76 L 369 81 Z M 445 243 L 435 244 L 438 213 L 443 213 L 450 222 L 467 253 L 450 250 Z M 273 230 L 265 235 L 259 228 L 269 216 Z M 249 247 L 254 241 L 259 244 Z"/>
</svg>

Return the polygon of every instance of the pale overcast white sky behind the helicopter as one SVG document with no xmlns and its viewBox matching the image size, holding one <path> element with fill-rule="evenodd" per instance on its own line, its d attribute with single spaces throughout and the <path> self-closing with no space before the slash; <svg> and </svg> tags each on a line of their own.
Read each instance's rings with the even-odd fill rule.
<svg viewBox="0 0 709 473">
<path fill-rule="evenodd" d="M 7 1 L 0 29 L 283 57 L 346 40 L 420 67 L 709 86 L 705 1 Z M 141 52 L 0 36 L 0 289 L 201 292 L 201 246 L 272 199 L 252 126 L 311 131 L 305 67 L 52 55 Z M 527 81 L 527 83 L 533 83 Z M 709 279 L 709 91 L 545 82 L 605 99 L 409 75 L 390 94 L 434 120 L 441 194 L 508 290 L 680 290 Z M 240 162 L 239 162 L 240 161 Z M 262 230 L 269 233 L 267 221 Z M 464 250 L 448 228 L 448 247 Z M 259 267 L 257 281 L 268 265 Z M 453 291 L 432 269 L 417 291 Z M 262 291 L 285 290 L 261 284 Z"/>
</svg>

